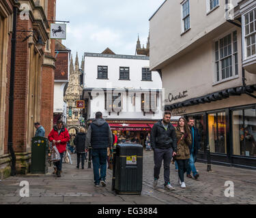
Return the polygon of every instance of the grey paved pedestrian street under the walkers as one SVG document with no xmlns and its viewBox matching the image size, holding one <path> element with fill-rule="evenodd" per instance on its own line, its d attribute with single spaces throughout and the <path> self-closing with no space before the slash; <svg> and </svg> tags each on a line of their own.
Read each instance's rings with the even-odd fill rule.
<svg viewBox="0 0 256 218">
<path fill-rule="evenodd" d="M 177 172 L 171 164 L 171 184 L 175 191 L 163 186 L 163 168 L 156 189 L 153 182 L 153 153 L 143 153 L 143 191 L 141 196 L 117 195 L 111 191 L 112 170 L 107 170 L 106 187 L 94 187 L 93 170 L 76 168 L 63 163 L 61 178 L 48 174 L 17 175 L 0 181 L 0 204 L 256 204 L 255 170 L 212 165 L 207 172 L 205 163 L 196 163 L 199 179 L 185 177 L 186 189 L 177 185 Z M 21 181 L 29 183 L 29 197 L 20 197 Z M 234 196 L 225 197 L 226 181 L 232 181 Z M 230 192 L 229 192 L 230 193 Z"/>
</svg>

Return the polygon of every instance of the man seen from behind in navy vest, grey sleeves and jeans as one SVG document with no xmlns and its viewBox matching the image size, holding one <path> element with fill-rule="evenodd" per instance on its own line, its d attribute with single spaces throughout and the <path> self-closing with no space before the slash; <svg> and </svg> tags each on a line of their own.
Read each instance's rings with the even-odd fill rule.
<svg viewBox="0 0 256 218">
<path fill-rule="evenodd" d="M 106 186 L 107 147 L 111 149 L 113 136 L 109 124 L 102 119 L 102 112 L 96 112 L 96 119 L 91 122 L 86 136 L 86 149 L 91 146 L 91 159 L 94 166 L 94 184 Z M 100 168 L 100 173 L 99 173 Z"/>
</svg>

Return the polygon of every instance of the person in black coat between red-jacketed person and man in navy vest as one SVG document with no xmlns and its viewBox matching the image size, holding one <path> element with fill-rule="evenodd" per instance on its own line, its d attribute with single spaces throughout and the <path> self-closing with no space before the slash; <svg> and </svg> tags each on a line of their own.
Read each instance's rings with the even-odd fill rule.
<svg viewBox="0 0 256 218">
<path fill-rule="evenodd" d="M 76 168 L 78 169 L 80 165 L 80 159 L 81 159 L 82 169 L 85 168 L 85 152 L 86 152 L 85 140 L 86 140 L 85 128 L 81 127 L 79 129 L 79 134 L 77 134 L 76 137 L 74 138 L 74 145 L 76 146 L 76 157 L 77 157 Z"/>
</svg>

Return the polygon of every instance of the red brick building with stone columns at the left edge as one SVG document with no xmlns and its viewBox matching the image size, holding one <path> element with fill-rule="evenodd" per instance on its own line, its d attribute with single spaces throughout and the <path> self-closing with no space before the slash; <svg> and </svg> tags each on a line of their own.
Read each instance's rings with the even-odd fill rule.
<svg viewBox="0 0 256 218">
<path fill-rule="evenodd" d="M 55 20 L 55 5 L 0 0 L 0 179 L 29 171 L 33 123 L 46 135 L 53 125 L 55 40 L 48 20 Z"/>
</svg>

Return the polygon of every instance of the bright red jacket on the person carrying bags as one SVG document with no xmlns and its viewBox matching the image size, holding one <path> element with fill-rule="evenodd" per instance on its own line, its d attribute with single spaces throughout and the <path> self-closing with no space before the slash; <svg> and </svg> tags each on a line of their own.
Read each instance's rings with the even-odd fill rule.
<svg viewBox="0 0 256 218">
<path fill-rule="evenodd" d="M 53 127 L 52 131 L 48 136 L 48 140 L 50 142 L 53 142 L 53 140 L 55 140 L 55 145 L 59 153 L 63 153 L 64 151 L 66 151 L 67 142 L 70 140 L 70 134 L 68 134 L 68 129 L 62 127 L 60 133 L 58 133 L 57 126 Z M 57 141 L 59 140 L 61 140 L 61 142 L 57 143 Z"/>
</svg>

